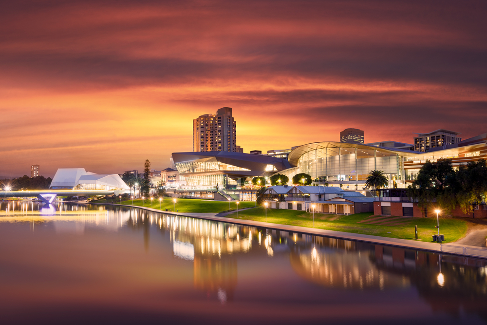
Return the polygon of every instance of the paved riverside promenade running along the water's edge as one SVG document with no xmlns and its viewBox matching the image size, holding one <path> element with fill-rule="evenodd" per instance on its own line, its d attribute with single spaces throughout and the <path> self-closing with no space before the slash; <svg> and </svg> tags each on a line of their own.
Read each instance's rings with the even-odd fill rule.
<svg viewBox="0 0 487 325">
<path fill-rule="evenodd" d="M 380 245 L 397 246 L 406 249 L 429 250 L 429 251 L 440 252 L 440 253 L 461 255 L 466 257 L 487 258 L 487 249 L 480 248 L 478 246 L 462 245 L 456 243 L 438 244 L 433 242 L 423 242 L 419 240 L 415 241 L 415 240 L 407 240 L 407 239 L 372 236 L 372 235 L 364 235 L 364 234 L 350 233 L 350 232 L 343 232 L 343 231 L 314 229 L 308 227 L 289 226 L 289 225 L 281 225 L 281 224 L 274 224 L 268 222 L 225 217 L 225 215 L 234 213 L 235 211 L 221 212 L 221 213 L 174 212 L 174 211 L 161 211 L 152 208 L 132 206 L 132 205 L 120 205 L 120 204 L 113 204 L 113 203 L 90 203 L 90 202 L 73 202 L 73 203 L 99 204 L 99 205 L 111 205 L 111 206 L 126 207 L 126 208 L 137 208 L 137 209 L 143 209 L 151 212 L 165 213 L 165 214 L 172 214 L 172 215 L 193 217 L 193 218 L 201 218 L 206 220 L 226 222 L 226 223 L 237 224 L 237 225 L 299 232 L 303 234 L 326 236 L 326 237 L 374 243 Z M 252 209 L 252 208 L 247 208 L 247 209 Z M 243 211 L 243 210 L 246 209 L 241 209 L 239 211 Z"/>
</svg>

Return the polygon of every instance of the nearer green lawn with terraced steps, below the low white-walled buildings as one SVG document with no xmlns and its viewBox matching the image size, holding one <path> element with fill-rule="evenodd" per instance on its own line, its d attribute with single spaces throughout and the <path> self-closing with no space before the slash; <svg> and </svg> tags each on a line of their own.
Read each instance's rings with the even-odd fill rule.
<svg viewBox="0 0 487 325">
<path fill-rule="evenodd" d="M 303 214 L 311 216 L 311 218 L 299 216 Z M 436 225 L 436 218 L 411 218 L 411 222 L 408 226 L 399 227 L 357 223 L 357 221 L 363 220 L 372 214 L 372 212 L 356 213 L 343 216 L 336 221 L 315 219 L 315 228 L 415 240 L 414 225 L 417 225 L 418 240 L 424 242 L 432 242 L 431 235 L 437 232 L 436 228 L 434 228 Z M 237 213 L 229 214 L 226 217 L 236 219 Z M 265 222 L 265 210 L 262 207 L 244 210 L 239 213 L 239 217 L 244 218 L 245 220 Z M 267 222 L 275 224 L 313 227 L 312 217 L 313 213 L 308 213 L 306 211 L 267 209 Z M 445 235 L 444 243 L 450 243 L 460 239 L 465 235 L 466 231 L 467 222 L 465 220 L 440 218 L 440 233 Z"/>
</svg>

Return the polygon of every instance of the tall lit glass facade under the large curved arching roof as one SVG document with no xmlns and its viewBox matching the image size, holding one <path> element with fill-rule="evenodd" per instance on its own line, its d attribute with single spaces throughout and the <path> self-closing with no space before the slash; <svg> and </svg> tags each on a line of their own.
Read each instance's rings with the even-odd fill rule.
<svg viewBox="0 0 487 325">
<path fill-rule="evenodd" d="M 319 148 L 303 153 L 298 159 L 300 172 L 327 181 L 364 181 L 371 170 L 402 179 L 403 157 L 374 149 Z"/>
</svg>

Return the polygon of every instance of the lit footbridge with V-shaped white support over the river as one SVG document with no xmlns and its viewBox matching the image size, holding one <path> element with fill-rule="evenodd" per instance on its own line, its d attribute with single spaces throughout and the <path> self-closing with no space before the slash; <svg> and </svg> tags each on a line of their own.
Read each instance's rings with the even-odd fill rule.
<svg viewBox="0 0 487 325">
<path fill-rule="evenodd" d="M 9 197 L 37 197 L 40 201 L 51 204 L 56 196 L 95 196 L 120 194 L 124 191 L 101 191 L 101 190 L 40 190 L 40 191 L 1 191 L 0 199 Z"/>
</svg>

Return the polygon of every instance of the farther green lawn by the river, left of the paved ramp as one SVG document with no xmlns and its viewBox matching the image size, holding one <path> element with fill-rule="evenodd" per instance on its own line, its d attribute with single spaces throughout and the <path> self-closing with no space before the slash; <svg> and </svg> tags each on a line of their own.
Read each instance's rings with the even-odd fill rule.
<svg viewBox="0 0 487 325">
<path fill-rule="evenodd" d="M 111 203 L 103 202 L 105 200 L 94 201 L 95 203 Z M 116 201 L 115 203 L 118 203 Z M 122 204 L 132 205 L 132 200 L 122 201 Z M 142 200 L 133 200 L 133 205 L 141 207 Z M 254 207 L 255 202 L 240 202 L 239 209 Z M 144 200 L 144 207 L 150 208 L 150 200 Z M 174 202 L 171 197 L 165 197 L 164 202 L 159 203 L 159 199 L 154 199 L 152 203 L 153 209 L 158 210 L 174 210 Z M 235 201 L 230 202 L 230 210 L 237 209 Z M 198 199 L 176 199 L 176 210 L 179 212 L 207 212 L 219 213 L 228 211 L 228 201 L 212 201 L 212 200 L 198 200 Z"/>
</svg>

